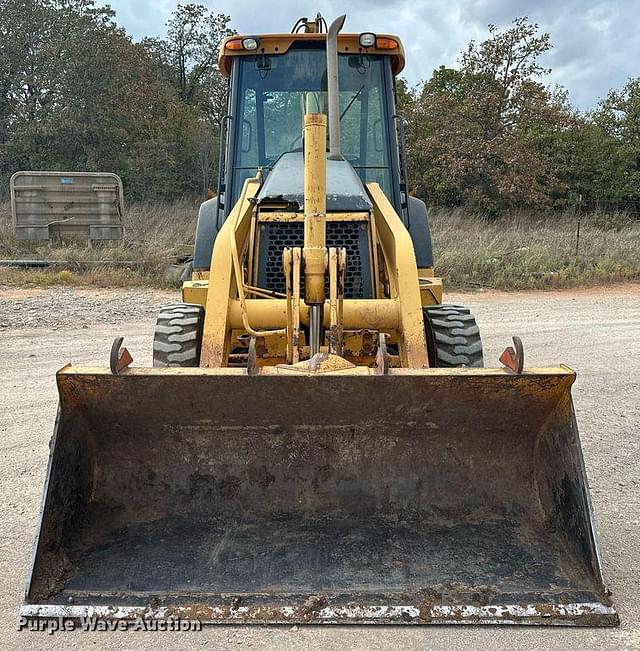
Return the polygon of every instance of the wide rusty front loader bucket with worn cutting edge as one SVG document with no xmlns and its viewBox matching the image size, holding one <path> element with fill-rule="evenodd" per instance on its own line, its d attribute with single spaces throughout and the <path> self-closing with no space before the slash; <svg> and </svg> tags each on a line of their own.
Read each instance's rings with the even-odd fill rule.
<svg viewBox="0 0 640 651">
<path fill-rule="evenodd" d="M 569 369 L 102 369 L 24 617 L 615 625 Z"/>
</svg>

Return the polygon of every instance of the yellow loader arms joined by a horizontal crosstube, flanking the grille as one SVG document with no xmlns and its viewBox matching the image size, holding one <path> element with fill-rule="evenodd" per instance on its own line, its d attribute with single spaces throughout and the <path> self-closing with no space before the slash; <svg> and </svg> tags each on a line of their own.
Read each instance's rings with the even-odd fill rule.
<svg viewBox="0 0 640 651">
<path fill-rule="evenodd" d="M 260 330 L 278 330 L 287 326 L 286 299 L 247 299 L 238 295 L 238 278 L 234 274 L 232 241 L 236 250 L 246 249 L 254 205 L 251 199 L 259 189 L 258 179 L 245 182 L 241 199 L 216 239 L 211 280 L 188 281 L 183 287 L 186 303 L 206 306 L 201 366 L 226 366 L 234 332 L 249 324 Z M 377 184 L 367 187 L 373 204 L 372 220 L 382 250 L 382 264 L 389 279 L 391 295 L 381 299 L 344 299 L 344 327 L 398 332 L 400 361 L 403 368 L 427 368 L 429 363 L 424 341 L 422 299 L 415 255 L 409 234 L 397 213 Z M 329 326 L 329 303 L 324 310 Z M 309 307 L 300 305 L 300 322 L 310 324 Z"/>
</svg>

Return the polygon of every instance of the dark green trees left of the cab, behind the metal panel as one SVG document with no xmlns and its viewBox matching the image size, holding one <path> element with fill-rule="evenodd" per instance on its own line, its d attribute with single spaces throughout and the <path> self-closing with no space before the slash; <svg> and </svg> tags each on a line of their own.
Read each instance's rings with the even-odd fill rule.
<svg viewBox="0 0 640 651">
<path fill-rule="evenodd" d="M 93 0 L 0 4 L 4 191 L 17 169 L 114 171 L 133 198 L 206 190 L 215 134 L 205 90 L 219 76 L 213 37 L 205 38 L 211 20 L 195 5 L 178 9 L 166 43 L 179 55 L 174 70 L 171 57 L 163 63 L 133 43 Z M 207 43 L 214 49 L 205 57 Z"/>
</svg>

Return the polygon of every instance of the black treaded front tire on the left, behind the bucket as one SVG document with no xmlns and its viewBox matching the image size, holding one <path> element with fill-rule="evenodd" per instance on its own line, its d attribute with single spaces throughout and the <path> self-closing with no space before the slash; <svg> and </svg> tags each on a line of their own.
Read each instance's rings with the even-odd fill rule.
<svg viewBox="0 0 640 651">
<path fill-rule="evenodd" d="M 202 305 L 177 303 L 160 309 L 153 333 L 153 365 L 198 366 L 202 346 Z"/>
</svg>

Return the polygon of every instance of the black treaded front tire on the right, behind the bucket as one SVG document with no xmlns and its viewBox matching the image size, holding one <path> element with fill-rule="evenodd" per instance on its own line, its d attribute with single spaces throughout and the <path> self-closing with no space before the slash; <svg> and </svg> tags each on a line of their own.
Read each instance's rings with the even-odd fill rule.
<svg viewBox="0 0 640 651">
<path fill-rule="evenodd" d="M 476 319 L 463 305 L 422 309 L 429 364 L 437 368 L 482 368 L 482 340 Z"/>
</svg>

